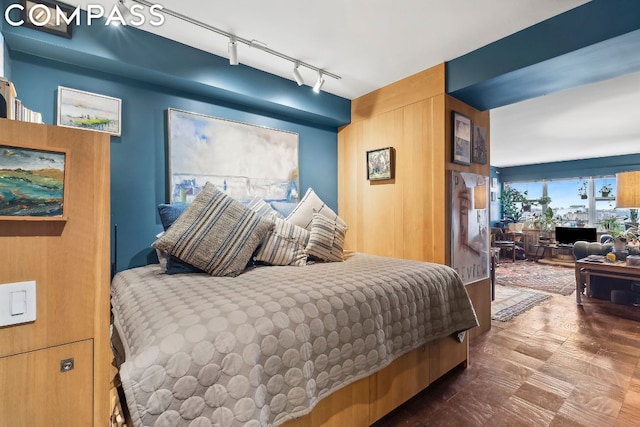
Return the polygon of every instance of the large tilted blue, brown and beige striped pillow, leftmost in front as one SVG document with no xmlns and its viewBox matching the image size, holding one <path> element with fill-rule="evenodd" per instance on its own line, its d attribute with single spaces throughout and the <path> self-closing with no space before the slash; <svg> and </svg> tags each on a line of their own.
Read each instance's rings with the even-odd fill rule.
<svg viewBox="0 0 640 427">
<path fill-rule="evenodd" d="M 153 247 L 212 276 L 237 276 L 271 228 L 273 221 L 207 182 Z"/>
</svg>

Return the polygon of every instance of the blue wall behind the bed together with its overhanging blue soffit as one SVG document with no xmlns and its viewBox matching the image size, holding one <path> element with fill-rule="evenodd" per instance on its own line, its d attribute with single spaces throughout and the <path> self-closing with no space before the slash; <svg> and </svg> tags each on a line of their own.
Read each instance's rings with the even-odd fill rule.
<svg viewBox="0 0 640 427">
<path fill-rule="evenodd" d="M 118 270 L 155 260 L 156 206 L 167 193 L 167 108 L 298 133 L 301 192 L 312 187 L 337 210 L 337 128 L 350 121 L 350 101 L 135 28 L 76 27 L 71 40 L 2 30 L 18 97 L 45 123 L 56 121 L 58 86 L 122 99 L 122 135 L 111 137 Z"/>
</svg>

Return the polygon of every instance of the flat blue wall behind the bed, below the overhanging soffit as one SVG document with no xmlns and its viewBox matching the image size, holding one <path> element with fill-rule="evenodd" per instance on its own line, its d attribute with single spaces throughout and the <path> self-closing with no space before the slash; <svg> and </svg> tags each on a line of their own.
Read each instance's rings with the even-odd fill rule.
<svg viewBox="0 0 640 427">
<path fill-rule="evenodd" d="M 150 244 L 162 230 L 156 206 L 166 201 L 167 108 L 268 126 L 299 134 L 300 187 L 312 187 L 337 209 L 337 132 L 215 99 L 199 98 L 25 55 L 12 60 L 13 82 L 31 109 L 53 123 L 57 87 L 67 86 L 122 99 L 122 136 L 111 137 L 111 222 L 118 225 L 118 269 L 153 259 Z"/>
</svg>

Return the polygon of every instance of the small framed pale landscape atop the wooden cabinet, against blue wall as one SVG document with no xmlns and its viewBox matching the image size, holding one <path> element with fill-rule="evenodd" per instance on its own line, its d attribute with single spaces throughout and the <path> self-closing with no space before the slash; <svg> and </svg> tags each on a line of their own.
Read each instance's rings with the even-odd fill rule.
<svg viewBox="0 0 640 427">
<path fill-rule="evenodd" d="M 122 100 L 58 86 L 58 126 L 120 136 Z"/>
</svg>

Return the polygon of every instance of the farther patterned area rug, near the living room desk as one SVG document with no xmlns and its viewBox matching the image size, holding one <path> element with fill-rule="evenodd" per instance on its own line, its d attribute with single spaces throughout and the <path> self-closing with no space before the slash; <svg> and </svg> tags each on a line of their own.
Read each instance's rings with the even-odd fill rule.
<svg viewBox="0 0 640 427">
<path fill-rule="evenodd" d="M 532 261 L 503 261 L 496 268 L 496 284 L 571 295 L 576 289 L 576 276 L 573 268 Z"/>
</svg>

